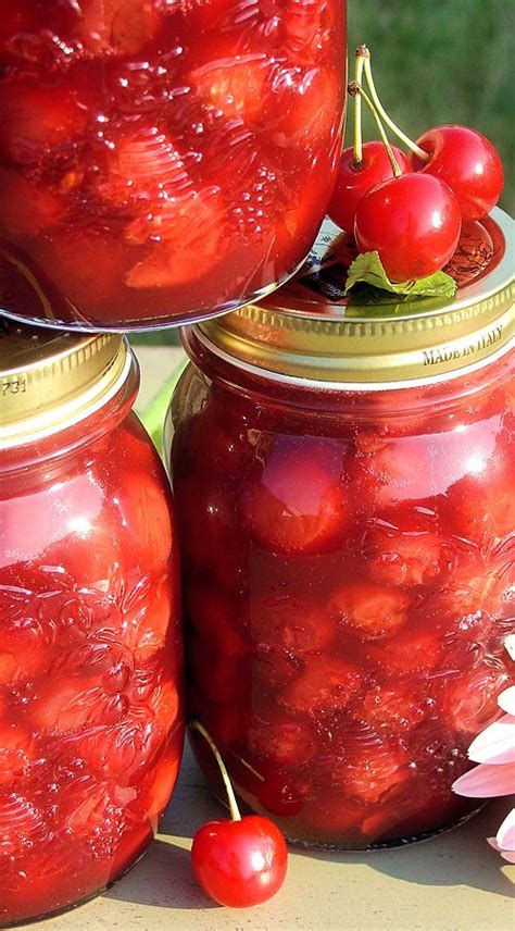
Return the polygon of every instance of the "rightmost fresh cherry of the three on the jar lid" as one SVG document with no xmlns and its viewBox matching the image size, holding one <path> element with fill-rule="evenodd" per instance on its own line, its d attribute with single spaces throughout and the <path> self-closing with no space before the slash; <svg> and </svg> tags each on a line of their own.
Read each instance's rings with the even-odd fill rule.
<svg viewBox="0 0 515 931">
<path fill-rule="evenodd" d="M 492 144 L 467 126 L 437 126 L 417 139 L 429 154 L 424 162 L 415 153 L 415 171 L 444 181 L 457 197 L 463 222 L 480 220 L 498 202 L 504 183 L 503 166 Z"/>
</svg>

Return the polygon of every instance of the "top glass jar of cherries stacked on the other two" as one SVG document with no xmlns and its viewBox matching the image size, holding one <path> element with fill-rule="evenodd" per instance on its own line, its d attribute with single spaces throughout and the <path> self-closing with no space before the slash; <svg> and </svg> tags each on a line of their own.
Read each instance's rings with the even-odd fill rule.
<svg viewBox="0 0 515 931">
<path fill-rule="evenodd" d="M 336 178 L 346 9 L 0 0 L 0 308 L 148 328 L 287 278 Z"/>
</svg>

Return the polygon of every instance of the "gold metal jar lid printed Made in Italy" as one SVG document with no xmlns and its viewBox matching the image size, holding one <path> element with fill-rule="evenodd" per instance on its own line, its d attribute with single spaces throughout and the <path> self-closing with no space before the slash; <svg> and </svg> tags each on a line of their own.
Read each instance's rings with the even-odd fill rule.
<svg viewBox="0 0 515 931">
<path fill-rule="evenodd" d="M 373 289 L 346 298 L 355 247 L 326 220 L 288 284 L 189 333 L 254 374 L 304 385 L 374 389 L 453 377 L 513 344 L 514 246 L 513 221 L 495 209 L 464 229 L 447 268 L 459 284 L 454 298 Z"/>
</svg>

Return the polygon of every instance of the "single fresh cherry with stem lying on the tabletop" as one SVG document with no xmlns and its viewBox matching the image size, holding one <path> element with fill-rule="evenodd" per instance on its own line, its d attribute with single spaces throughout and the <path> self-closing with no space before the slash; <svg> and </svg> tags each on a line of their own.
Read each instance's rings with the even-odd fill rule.
<svg viewBox="0 0 515 931">
<path fill-rule="evenodd" d="M 286 841 L 268 818 L 241 817 L 216 744 L 200 721 L 192 721 L 191 728 L 202 734 L 215 756 L 233 819 L 209 821 L 197 831 L 191 846 L 193 872 L 204 892 L 219 905 L 260 905 L 272 898 L 286 879 Z"/>
</svg>

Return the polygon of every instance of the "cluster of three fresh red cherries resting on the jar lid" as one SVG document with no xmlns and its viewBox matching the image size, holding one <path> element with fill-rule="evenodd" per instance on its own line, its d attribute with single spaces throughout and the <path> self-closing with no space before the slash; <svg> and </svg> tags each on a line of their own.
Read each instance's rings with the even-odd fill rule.
<svg viewBox="0 0 515 931">
<path fill-rule="evenodd" d="M 353 232 L 360 252 L 376 250 L 392 282 L 423 278 L 453 255 L 462 223 L 482 219 L 503 187 L 501 159 L 491 142 L 465 126 L 439 126 L 417 147 L 428 158 L 393 147 L 394 176 L 381 141 L 365 142 L 363 159 L 344 149 L 329 215 Z"/>
</svg>

